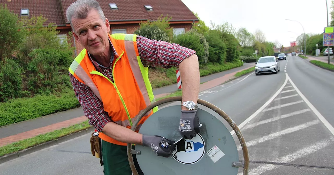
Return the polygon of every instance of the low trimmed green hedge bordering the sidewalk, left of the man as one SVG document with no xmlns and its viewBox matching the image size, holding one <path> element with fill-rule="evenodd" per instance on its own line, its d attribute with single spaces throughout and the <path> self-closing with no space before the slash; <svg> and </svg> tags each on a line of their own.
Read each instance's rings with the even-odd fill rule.
<svg viewBox="0 0 334 175">
<path fill-rule="evenodd" d="M 79 106 L 74 91 L 70 89 L 62 93 L 60 97 L 36 95 L 32 98 L 12 99 L 0 105 L 0 126 L 66 111 Z"/>
</svg>

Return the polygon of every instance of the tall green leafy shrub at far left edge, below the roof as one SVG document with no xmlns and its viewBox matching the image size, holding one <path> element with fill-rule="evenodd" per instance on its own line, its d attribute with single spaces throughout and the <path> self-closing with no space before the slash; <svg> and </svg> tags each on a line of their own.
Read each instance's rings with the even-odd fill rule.
<svg viewBox="0 0 334 175">
<path fill-rule="evenodd" d="M 0 61 L 5 61 L 18 48 L 24 33 L 18 17 L 9 11 L 7 5 L 0 5 Z"/>
</svg>

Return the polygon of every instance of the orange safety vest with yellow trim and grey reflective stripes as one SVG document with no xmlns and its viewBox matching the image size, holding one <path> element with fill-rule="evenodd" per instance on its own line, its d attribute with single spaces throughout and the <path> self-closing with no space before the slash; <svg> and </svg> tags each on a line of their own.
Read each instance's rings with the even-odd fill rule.
<svg viewBox="0 0 334 175">
<path fill-rule="evenodd" d="M 119 58 L 113 61 L 114 82 L 101 72 L 96 71 L 86 49 L 80 52 L 68 70 L 77 80 L 92 89 L 103 102 L 103 108 L 113 122 L 131 128 L 132 123 L 136 120 L 136 115 L 155 102 L 148 79 L 148 67 L 144 67 L 139 57 L 137 35 L 108 35 L 119 55 Z M 139 121 L 136 132 L 139 131 L 144 121 L 157 110 L 158 107 L 155 107 Z M 99 133 L 99 137 L 113 144 L 127 145 L 127 143 L 115 140 L 103 132 Z"/>
</svg>

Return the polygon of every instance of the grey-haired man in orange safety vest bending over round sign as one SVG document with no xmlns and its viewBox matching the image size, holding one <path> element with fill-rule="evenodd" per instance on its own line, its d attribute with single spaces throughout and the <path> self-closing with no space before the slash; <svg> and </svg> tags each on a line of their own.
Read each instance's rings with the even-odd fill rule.
<svg viewBox="0 0 334 175">
<path fill-rule="evenodd" d="M 85 49 L 69 67 L 73 90 L 90 125 L 99 132 L 105 175 L 131 174 L 127 144 L 150 147 L 157 156 L 170 157 L 176 144 L 162 145 L 161 136 L 138 133 L 148 112 L 130 128 L 139 112 L 155 102 L 148 79 L 148 66 L 178 67 L 183 93 L 179 133 L 192 139 L 199 133 L 197 99 L 199 67 L 195 51 L 164 41 L 133 34 L 110 35 L 110 23 L 96 0 L 78 0 L 66 11 L 73 36 Z M 143 174 L 133 155 L 136 169 Z"/>
</svg>

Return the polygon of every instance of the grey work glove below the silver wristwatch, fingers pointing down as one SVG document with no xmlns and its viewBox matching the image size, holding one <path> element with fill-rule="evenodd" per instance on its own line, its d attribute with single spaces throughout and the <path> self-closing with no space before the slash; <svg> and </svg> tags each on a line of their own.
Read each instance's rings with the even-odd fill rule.
<svg viewBox="0 0 334 175">
<path fill-rule="evenodd" d="M 199 133 L 199 118 L 197 110 L 181 110 L 179 133 L 184 139 L 192 139 Z"/>
</svg>

